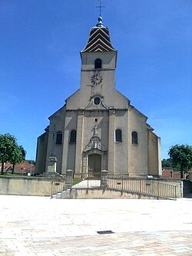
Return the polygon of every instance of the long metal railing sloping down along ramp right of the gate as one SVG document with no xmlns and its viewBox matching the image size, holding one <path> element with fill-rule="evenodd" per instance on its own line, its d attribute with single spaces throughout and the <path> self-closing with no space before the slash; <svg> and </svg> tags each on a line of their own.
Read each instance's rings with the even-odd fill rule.
<svg viewBox="0 0 192 256">
<path fill-rule="evenodd" d="M 151 181 L 149 179 L 126 178 L 121 175 L 108 175 L 108 188 L 162 198 L 177 198 L 177 186 Z"/>
</svg>

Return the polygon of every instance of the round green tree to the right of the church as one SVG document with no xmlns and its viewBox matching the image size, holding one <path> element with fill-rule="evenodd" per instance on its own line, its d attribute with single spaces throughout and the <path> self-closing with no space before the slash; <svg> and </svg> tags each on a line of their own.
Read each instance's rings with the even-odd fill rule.
<svg viewBox="0 0 192 256">
<path fill-rule="evenodd" d="M 180 178 L 184 178 L 184 172 L 192 167 L 192 147 L 190 145 L 174 145 L 170 147 L 168 155 L 174 167 L 180 170 Z"/>
</svg>

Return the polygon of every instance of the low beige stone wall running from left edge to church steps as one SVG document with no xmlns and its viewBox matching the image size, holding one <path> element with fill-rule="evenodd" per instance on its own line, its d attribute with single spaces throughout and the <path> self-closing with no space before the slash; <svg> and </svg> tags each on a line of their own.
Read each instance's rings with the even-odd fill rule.
<svg viewBox="0 0 192 256">
<path fill-rule="evenodd" d="M 64 189 L 64 178 L 0 177 L 0 194 L 51 196 Z"/>
</svg>

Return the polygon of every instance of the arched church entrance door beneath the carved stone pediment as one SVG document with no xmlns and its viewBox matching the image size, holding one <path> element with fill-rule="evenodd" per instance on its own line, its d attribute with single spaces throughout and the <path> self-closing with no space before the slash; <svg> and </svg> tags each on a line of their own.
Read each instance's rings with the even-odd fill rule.
<svg viewBox="0 0 192 256">
<path fill-rule="evenodd" d="M 91 154 L 88 156 L 88 173 L 96 174 L 101 172 L 101 155 Z"/>
</svg>

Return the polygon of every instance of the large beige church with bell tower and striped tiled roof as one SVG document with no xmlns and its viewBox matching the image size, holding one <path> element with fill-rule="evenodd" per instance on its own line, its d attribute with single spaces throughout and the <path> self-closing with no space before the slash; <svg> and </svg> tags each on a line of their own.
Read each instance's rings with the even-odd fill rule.
<svg viewBox="0 0 192 256">
<path fill-rule="evenodd" d="M 56 172 L 161 176 L 161 138 L 146 115 L 114 87 L 117 50 L 102 18 L 91 28 L 81 54 L 81 85 L 49 119 L 38 137 L 35 174 L 57 159 Z M 117 82 L 118 83 L 118 82 Z"/>
</svg>

